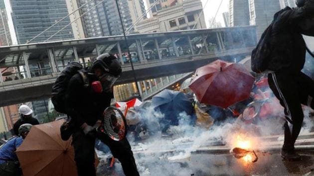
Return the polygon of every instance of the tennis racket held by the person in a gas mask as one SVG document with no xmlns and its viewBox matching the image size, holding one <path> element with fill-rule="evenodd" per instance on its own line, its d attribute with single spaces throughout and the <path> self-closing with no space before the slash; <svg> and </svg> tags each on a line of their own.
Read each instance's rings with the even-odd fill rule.
<svg viewBox="0 0 314 176">
<path fill-rule="evenodd" d="M 127 135 L 127 121 L 121 110 L 107 107 L 104 111 L 104 124 L 98 131 L 106 133 L 115 141 L 124 139 Z"/>
</svg>

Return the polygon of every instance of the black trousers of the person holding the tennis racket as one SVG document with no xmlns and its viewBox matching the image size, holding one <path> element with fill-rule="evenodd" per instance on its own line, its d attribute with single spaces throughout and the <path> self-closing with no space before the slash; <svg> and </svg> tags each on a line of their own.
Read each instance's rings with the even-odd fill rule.
<svg viewBox="0 0 314 176">
<path fill-rule="evenodd" d="M 122 141 L 113 141 L 103 133 L 85 135 L 81 129 L 75 130 L 72 137 L 75 151 L 74 159 L 79 176 L 96 176 L 94 166 L 96 137 L 106 144 L 113 156 L 121 162 L 126 176 L 139 176 L 130 143 L 126 138 Z"/>
</svg>

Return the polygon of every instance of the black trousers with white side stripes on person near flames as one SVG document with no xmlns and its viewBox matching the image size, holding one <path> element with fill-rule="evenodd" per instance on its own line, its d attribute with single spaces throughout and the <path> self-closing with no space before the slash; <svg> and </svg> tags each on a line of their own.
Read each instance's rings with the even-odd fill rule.
<svg viewBox="0 0 314 176">
<path fill-rule="evenodd" d="M 268 82 L 285 108 L 287 121 L 283 150 L 293 151 L 304 118 L 301 104 L 314 108 L 314 81 L 302 72 L 280 71 L 269 74 Z"/>
</svg>

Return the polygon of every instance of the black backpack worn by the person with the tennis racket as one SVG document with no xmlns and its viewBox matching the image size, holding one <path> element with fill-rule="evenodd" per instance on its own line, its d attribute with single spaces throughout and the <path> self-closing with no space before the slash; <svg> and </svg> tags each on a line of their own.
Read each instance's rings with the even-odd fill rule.
<svg viewBox="0 0 314 176">
<path fill-rule="evenodd" d="M 60 73 L 60 76 L 57 78 L 56 82 L 52 87 L 51 101 L 56 111 L 67 114 L 65 103 L 67 98 L 66 92 L 68 88 L 68 83 L 70 79 L 77 73 L 79 73 L 82 76 L 84 87 L 89 86 L 89 81 L 86 76 L 86 72 L 83 69 L 83 66 L 77 62 L 70 63 Z"/>
</svg>

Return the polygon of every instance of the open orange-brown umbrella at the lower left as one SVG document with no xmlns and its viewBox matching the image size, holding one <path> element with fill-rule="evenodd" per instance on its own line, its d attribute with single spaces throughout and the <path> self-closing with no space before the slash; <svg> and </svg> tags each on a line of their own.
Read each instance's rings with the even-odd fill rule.
<svg viewBox="0 0 314 176">
<path fill-rule="evenodd" d="M 60 126 L 64 121 L 31 128 L 16 150 L 23 176 L 77 176 L 72 137 L 63 141 L 60 136 Z M 96 156 L 96 167 L 98 163 Z"/>
</svg>

